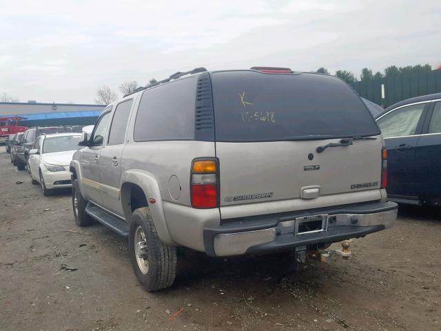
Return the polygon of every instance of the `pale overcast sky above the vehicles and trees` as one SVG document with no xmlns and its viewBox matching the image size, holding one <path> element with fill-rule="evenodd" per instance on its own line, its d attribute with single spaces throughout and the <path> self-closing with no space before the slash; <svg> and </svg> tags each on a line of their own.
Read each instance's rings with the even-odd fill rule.
<svg viewBox="0 0 441 331">
<path fill-rule="evenodd" d="M 0 0 L 0 93 L 94 103 L 195 67 L 441 64 L 440 0 Z"/>
</svg>

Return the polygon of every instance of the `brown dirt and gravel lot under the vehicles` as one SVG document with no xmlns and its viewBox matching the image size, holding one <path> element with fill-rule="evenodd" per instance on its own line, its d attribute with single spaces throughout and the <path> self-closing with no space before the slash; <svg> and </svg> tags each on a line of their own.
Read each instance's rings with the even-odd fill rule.
<svg viewBox="0 0 441 331">
<path fill-rule="evenodd" d="M 441 330 L 437 210 L 400 208 L 394 228 L 354 241 L 349 261 L 297 274 L 287 254 L 183 250 L 175 285 L 150 294 L 124 239 L 76 228 L 69 191 L 43 197 L 3 151 L 0 183 L 1 331 Z"/>
</svg>

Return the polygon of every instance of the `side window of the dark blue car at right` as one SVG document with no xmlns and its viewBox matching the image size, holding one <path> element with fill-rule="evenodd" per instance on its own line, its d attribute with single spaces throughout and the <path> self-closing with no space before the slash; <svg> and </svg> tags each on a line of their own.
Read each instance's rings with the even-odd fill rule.
<svg viewBox="0 0 441 331">
<path fill-rule="evenodd" d="M 407 106 L 384 115 L 378 120 L 383 137 L 403 137 L 415 134 L 425 106 L 425 103 Z"/>
</svg>

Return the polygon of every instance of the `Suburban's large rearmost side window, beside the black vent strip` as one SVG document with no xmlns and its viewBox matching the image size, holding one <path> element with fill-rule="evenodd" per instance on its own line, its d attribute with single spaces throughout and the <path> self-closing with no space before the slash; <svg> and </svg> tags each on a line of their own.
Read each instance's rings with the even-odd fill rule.
<svg viewBox="0 0 441 331">
<path fill-rule="evenodd" d="M 134 140 L 192 140 L 196 77 L 166 83 L 143 92 L 136 114 Z"/>
</svg>

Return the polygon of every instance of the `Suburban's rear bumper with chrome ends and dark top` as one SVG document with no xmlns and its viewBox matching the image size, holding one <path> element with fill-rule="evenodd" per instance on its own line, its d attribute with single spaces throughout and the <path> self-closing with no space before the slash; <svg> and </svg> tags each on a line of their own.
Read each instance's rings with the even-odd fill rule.
<svg viewBox="0 0 441 331">
<path fill-rule="evenodd" d="M 398 205 L 389 201 L 234 219 L 216 228 L 204 229 L 205 251 L 210 256 L 223 257 L 335 243 L 390 228 L 397 212 Z M 318 214 L 328 215 L 322 231 L 295 233 L 298 217 Z"/>
</svg>

